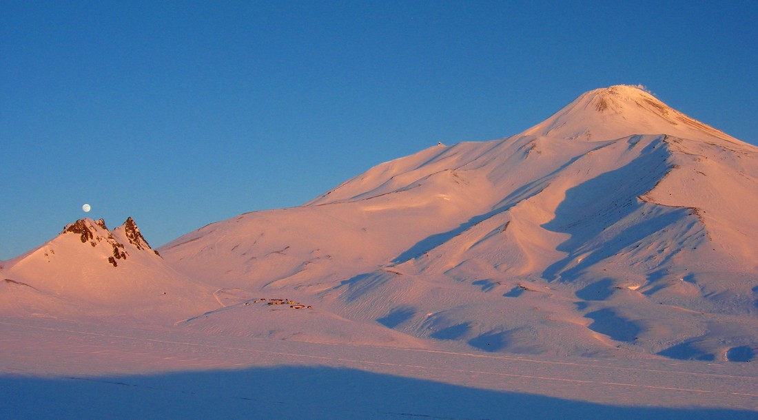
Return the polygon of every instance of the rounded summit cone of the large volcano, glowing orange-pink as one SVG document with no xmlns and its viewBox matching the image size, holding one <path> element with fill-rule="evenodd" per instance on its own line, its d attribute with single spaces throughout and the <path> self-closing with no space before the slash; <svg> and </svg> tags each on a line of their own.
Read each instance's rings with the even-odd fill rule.
<svg viewBox="0 0 758 420">
<path fill-rule="evenodd" d="M 603 141 L 634 134 L 668 134 L 706 140 L 737 139 L 681 114 L 641 87 L 618 85 L 584 93 L 522 135 Z"/>
</svg>

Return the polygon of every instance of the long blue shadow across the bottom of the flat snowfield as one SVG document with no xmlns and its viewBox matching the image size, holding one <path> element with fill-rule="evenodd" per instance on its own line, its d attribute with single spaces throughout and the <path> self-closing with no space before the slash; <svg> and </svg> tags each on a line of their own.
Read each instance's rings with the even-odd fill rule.
<svg viewBox="0 0 758 420">
<path fill-rule="evenodd" d="M 731 409 L 606 406 L 318 366 L 97 378 L 2 376 L 0 391 L 3 418 L 30 419 L 758 417 Z"/>
</svg>

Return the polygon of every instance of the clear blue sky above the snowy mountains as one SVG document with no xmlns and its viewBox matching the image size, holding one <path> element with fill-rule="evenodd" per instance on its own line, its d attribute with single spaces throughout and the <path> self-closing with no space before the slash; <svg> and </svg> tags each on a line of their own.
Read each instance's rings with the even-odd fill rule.
<svg viewBox="0 0 758 420">
<path fill-rule="evenodd" d="M 756 22 L 753 0 L 0 0 L 0 260 L 84 216 L 158 246 L 621 83 L 756 145 Z"/>
</svg>

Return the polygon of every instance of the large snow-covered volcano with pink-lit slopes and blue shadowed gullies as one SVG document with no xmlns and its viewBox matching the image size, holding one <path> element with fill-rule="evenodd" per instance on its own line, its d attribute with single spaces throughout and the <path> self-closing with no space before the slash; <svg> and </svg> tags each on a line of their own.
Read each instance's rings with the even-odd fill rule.
<svg viewBox="0 0 758 420">
<path fill-rule="evenodd" d="M 160 254 L 200 295 L 287 295 L 321 314 L 277 338 L 740 361 L 758 351 L 756 208 L 758 148 L 612 86 Z M 223 309 L 182 328 L 273 331 Z"/>
</svg>

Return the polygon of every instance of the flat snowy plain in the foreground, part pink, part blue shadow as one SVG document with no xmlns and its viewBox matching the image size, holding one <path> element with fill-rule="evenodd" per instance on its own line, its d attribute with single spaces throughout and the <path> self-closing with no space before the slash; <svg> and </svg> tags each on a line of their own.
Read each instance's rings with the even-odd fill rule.
<svg viewBox="0 0 758 420">
<path fill-rule="evenodd" d="M 753 363 L 0 323 L 10 418 L 756 418 Z M 8 417 L 6 417 L 8 418 Z"/>
</svg>

